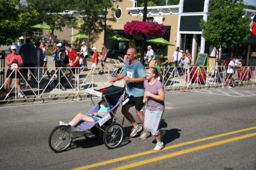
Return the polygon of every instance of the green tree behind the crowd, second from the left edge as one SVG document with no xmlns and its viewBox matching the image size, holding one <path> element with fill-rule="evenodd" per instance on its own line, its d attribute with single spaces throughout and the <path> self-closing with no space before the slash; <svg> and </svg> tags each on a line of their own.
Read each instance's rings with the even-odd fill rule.
<svg viewBox="0 0 256 170">
<path fill-rule="evenodd" d="M 35 9 L 39 13 L 38 23 L 45 22 L 54 30 L 63 31 L 63 27 L 75 27 L 76 17 L 72 14 L 63 14 L 73 10 L 75 0 L 27 0 L 25 8 Z M 61 14 L 62 13 L 62 14 Z"/>
</svg>

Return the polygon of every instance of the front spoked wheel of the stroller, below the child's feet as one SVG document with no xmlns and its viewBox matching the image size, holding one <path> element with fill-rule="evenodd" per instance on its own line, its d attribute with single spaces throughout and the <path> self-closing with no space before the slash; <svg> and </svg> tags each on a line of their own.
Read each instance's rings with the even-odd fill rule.
<svg viewBox="0 0 256 170">
<path fill-rule="evenodd" d="M 61 125 L 54 128 L 50 133 L 48 144 L 54 152 L 64 152 L 69 148 L 73 138 L 71 133 L 66 132 L 67 129 L 67 126 Z"/>
</svg>

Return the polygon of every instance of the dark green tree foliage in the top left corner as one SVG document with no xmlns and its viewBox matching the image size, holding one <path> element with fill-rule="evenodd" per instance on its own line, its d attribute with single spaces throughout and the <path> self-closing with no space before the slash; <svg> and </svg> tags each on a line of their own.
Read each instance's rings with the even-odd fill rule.
<svg viewBox="0 0 256 170">
<path fill-rule="evenodd" d="M 22 11 L 18 5 L 19 0 L 0 0 L 0 46 L 14 42 L 37 16 L 35 10 Z"/>
</svg>

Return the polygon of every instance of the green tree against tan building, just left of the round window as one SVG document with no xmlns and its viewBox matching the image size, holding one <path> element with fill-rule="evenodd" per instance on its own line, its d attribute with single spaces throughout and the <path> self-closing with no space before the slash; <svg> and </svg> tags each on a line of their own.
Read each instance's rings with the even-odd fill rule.
<svg viewBox="0 0 256 170">
<path fill-rule="evenodd" d="M 74 13 L 80 16 L 80 33 L 89 36 L 88 46 L 96 42 L 99 34 L 103 32 L 106 14 L 106 21 L 116 21 L 112 0 L 78 0 Z M 109 29 L 111 26 L 107 25 L 106 30 Z"/>
</svg>

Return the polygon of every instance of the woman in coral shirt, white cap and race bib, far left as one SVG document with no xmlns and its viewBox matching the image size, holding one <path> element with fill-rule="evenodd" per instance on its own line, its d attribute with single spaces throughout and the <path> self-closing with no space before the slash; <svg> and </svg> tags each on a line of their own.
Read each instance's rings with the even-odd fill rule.
<svg viewBox="0 0 256 170">
<path fill-rule="evenodd" d="M 8 65 L 8 70 L 7 70 L 7 74 L 6 77 L 8 78 L 7 80 L 7 94 L 6 94 L 6 98 L 9 97 L 9 93 L 11 90 L 11 82 L 13 78 L 16 78 L 16 88 L 18 91 L 17 96 L 18 97 L 24 97 L 21 94 L 21 66 L 23 65 L 23 60 L 21 58 L 21 55 L 18 55 L 16 53 L 16 46 L 12 45 L 11 46 L 11 53 L 9 55 L 7 55 L 6 57 L 6 65 Z"/>
</svg>

